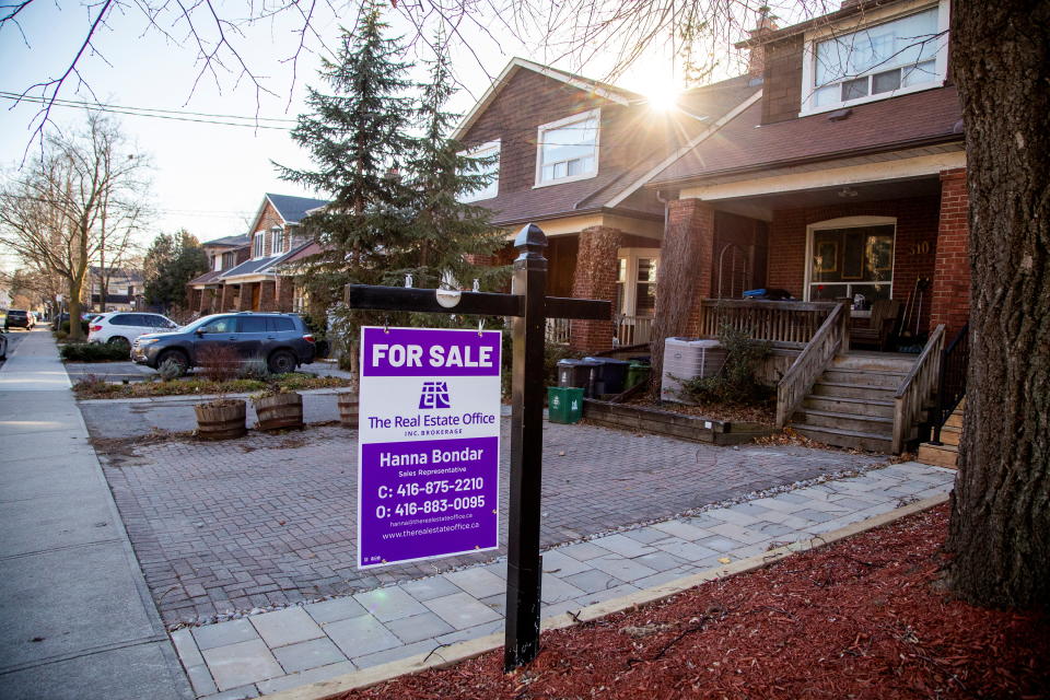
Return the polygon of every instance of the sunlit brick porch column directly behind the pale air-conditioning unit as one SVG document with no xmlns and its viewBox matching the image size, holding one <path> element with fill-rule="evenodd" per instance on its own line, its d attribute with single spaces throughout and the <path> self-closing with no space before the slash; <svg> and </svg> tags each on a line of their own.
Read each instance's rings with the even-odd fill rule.
<svg viewBox="0 0 1050 700">
<path fill-rule="evenodd" d="M 696 336 L 700 330 L 700 300 L 711 296 L 714 256 L 714 209 L 699 199 L 667 203 L 667 230 L 660 249 L 656 277 L 656 318 L 650 349 L 654 380 L 663 366 L 664 339 Z"/>
</svg>

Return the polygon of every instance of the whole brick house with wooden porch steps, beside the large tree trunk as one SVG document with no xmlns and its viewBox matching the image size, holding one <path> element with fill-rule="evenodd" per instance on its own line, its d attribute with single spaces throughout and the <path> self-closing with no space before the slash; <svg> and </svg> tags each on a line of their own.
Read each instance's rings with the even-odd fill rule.
<svg viewBox="0 0 1050 700">
<path fill-rule="evenodd" d="M 898 452 L 936 388 L 930 366 L 968 318 L 966 153 L 948 71 L 948 0 L 844 2 L 828 15 L 752 33 L 742 46 L 763 59 L 760 98 L 646 184 L 668 200 L 665 247 L 686 252 L 677 261 L 698 271 L 693 299 L 685 300 L 688 323 L 665 327 L 710 334 L 704 318 L 714 306 L 704 300 L 768 288 L 802 302 L 784 308 L 863 296 L 866 311 L 845 307 L 847 335 L 829 354 L 829 372 L 836 362 L 852 368 L 843 376 L 863 373 L 842 355 L 876 304 L 895 308 L 919 342 L 930 338 L 918 359 L 879 365 L 887 387 L 906 376 L 864 409 L 879 415 L 871 421 L 882 428 L 891 423 Z M 663 289 L 656 313 L 681 317 L 681 300 L 665 300 Z M 909 372 L 925 385 L 901 408 Z M 781 420 L 832 444 L 886 447 L 885 431 L 847 415 L 862 400 L 830 406 L 808 394 L 821 382 L 842 384 L 828 376 L 803 377 Z M 820 408 L 806 415 L 809 406 Z M 861 438 L 837 442 L 836 425 Z"/>
</svg>

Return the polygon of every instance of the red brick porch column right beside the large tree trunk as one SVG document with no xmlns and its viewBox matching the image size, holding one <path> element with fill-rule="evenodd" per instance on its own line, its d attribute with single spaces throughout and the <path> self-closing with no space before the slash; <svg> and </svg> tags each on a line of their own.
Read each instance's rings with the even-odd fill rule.
<svg viewBox="0 0 1050 700">
<path fill-rule="evenodd" d="M 969 195 L 966 168 L 941 172 L 941 221 L 933 270 L 930 329 L 945 325 L 946 342 L 970 317 Z"/>
</svg>

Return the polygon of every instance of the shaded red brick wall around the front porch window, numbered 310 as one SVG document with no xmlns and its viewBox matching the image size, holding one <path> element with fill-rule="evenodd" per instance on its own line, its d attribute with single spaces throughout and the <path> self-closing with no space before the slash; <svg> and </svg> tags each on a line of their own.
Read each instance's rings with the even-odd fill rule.
<svg viewBox="0 0 1050 700">
<path fill-rule="evenodd" d="M 806 275 L 806 226 L 840 217 L 896 217 L 897 238 L 894 246 L 892 298 L 908 301 L 920 277 L 933 279 L 937 250 L 936 197 L 917 197 L 892 201 L 842 203 L 831 207 L 782 209 L 773 212 L 769 225 L 769 264 L 766 284 L 785 289 L 803 298 Z M 923 295 L 919 330 L 925 331 L 930 320 L 930 291 Z M 918 304 L 917 313 L 920 312 Z M 903 313 L 903 312 L 902 312 Z M 912 320 L 912 328 L 914 328 Z"/>
</svg>

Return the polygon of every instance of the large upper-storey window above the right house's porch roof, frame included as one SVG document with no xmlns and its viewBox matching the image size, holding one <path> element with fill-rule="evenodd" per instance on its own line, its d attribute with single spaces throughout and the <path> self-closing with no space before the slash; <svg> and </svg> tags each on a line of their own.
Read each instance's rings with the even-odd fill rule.
<svg viewBox="0 0 1050 700">
<path fill-rule="evenodd" d="M 943 84 L 946 30 L 942 2 L 859 31 L 818 34 L 806 45 L 803 115 Z"/>
</svg>

